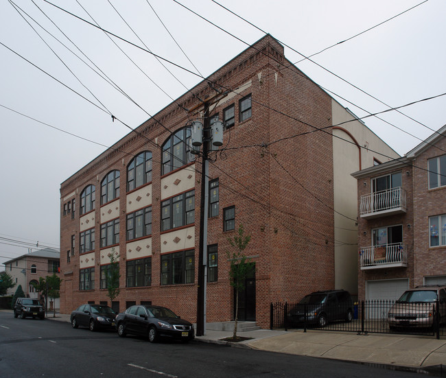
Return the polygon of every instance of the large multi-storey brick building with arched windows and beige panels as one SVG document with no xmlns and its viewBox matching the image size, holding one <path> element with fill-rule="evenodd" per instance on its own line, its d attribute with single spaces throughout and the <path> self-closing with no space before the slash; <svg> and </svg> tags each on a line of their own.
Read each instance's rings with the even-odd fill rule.
<svg viewBox="0 0 446 378">
<path fill-rule="evenodd" d="M 209 163 L 207 321 L 233 318 L 226 253 L 241 224 L 256 271 L 240 318 L 268 327 L 271 302 L 356 294 L 351 173 L 398 155 L 267 35 L 62 182 L 62 312 L 151 302 L 196 321 L 202 159 L 190 152 L 190 124 L 204 100 L 210 123 L 224 122 Z M 111 252 L 121 293 L 110 304 Z"/>
</svg>

